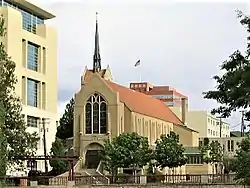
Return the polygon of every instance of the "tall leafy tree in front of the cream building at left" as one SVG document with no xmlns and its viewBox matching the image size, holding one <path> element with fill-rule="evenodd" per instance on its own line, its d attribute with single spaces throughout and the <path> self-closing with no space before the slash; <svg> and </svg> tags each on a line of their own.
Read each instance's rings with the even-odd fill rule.
<svg viewBox="0 0 250 188">
<path fill-rule="evenodd" d="M 0 36 L 5 37 L 4 19 L 0 18 Z M 37 149 L 39 138 L 36 133 L 28 133 L 27 125 L 22 115 L 22 104 L 15 94 L 15 62 L 8 57 L 4 45 L 0 44 L 1 64 L 1 95 L 0 101 L 5 112 L 4 124 L 1 126 L 3 137 L 6 139 L 6 155 L 8 163 L 20 164 L 17 156 L 34 155 Z"/>
</svg>

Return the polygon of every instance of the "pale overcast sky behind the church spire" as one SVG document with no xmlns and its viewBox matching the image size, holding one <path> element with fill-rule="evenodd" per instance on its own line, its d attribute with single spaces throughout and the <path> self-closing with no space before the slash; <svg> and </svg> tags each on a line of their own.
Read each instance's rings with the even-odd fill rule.
<svg viewBox="0 0 250 188">
<path fill-rule="evenodd" d="M 235 13 L 246 12 L 245 3 L 35 2 L 56 15 L 48 24 L 59 35 L 60 111 L 80 89 L 84 67 L 92 67 L 95 12 L 102 67 L 110 65 L 115 82 L 128 86 L 141 75 L 142 81 L 170 85 L 189 97 L 190 109 L 216 105 L 204 100 L 202 92 L 214 88 L 211 78 L 220 73 L 219 65 L 246 46 L 246 32 Z M 141 66 L 135 68 L 138 59 Z M 240 116 L 234 114 L 229 122 L 235 127 Z"/>
</svg>

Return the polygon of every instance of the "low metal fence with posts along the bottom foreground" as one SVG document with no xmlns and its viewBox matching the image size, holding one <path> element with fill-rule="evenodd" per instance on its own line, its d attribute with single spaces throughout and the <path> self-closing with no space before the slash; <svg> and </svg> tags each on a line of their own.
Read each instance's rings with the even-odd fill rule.
<svg viewBox="0 0 250 188">
<path fill-rule="evenodd" d="M 107 181 L 109 180 L 109 181 Z M 67 185 L 68 177 L 0 177 L 0 187 L 29 186 L 31 181 L 38 185 Z M 119 176 L 75 176 L 75 185 L 90 184 L 236 184 L 235 175 L 119 175 Z"/>
</svg>

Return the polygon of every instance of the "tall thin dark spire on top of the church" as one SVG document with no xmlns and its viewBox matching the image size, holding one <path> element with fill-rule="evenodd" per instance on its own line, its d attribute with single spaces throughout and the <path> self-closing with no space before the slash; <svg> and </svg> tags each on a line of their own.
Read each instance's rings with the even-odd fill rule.
<svg viewBox="0 0 250 188">
<path fill-rule="evenodd" d="M 95 28 L 95 51 L 93 57 L 93 72 L 99 72 L 101 70 L 101 56 L 99 47 L 99 32 L 98 32 L 98 13 L 96 13 L 96 28 Z"/>
</svg>

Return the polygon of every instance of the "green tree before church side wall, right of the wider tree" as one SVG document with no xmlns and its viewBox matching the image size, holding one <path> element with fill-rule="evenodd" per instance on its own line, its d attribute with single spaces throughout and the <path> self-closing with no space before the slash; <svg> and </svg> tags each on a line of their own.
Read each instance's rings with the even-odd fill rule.
<svg viewBox="0 0 250 188">
<path fill-rule="evenodd" d="M 170 134 L 161 135 L 155 144 L 154 157 L 161 169 L 165 167 L 174 169 L 187 163 L 184 147 L 179 143 L 179 135 L 174 132 L 171 131 Z"/>
</svg>

